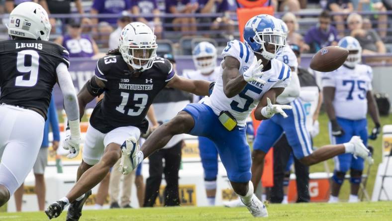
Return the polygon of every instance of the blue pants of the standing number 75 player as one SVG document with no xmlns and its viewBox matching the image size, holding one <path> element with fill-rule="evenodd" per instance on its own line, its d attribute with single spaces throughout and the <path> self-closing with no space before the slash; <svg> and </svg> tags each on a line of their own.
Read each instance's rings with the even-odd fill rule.
<svg viewBox="0 0 392 221">
<path fill-rule="evenodd" d="M 329 123 L 329 138 L 332 144 L 346 143 L 350 141 L 352 136 L 360 136 L 365 146 L 368 145 L 368 121 L 367 119 L 350 120 L 336 117 L 339 125 L 344 130 L 342 136 L 332 136 L 331 124 Z M 361 157 L 354 158 L 351 153 L 340 154 L 333 158 L 335 161 L 335 170 L 339 172 L 347 172 L 350 168 L 354 170 L 364 169 L 364 159 Z"/>
</svg>

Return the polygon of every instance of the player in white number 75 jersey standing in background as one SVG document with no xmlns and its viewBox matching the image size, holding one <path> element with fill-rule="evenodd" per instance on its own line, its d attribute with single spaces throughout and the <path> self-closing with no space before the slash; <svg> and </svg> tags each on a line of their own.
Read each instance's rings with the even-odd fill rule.
<svg viewBox="0 0 392 221">
<path fill-rule="evenodd" d="M 337 70 L 322 77 L 324 102 L 330 119 L 329 133 L 332 144 L 347 142 L 351 136 L 360 136 L 367 145 L 367 120 L 369 112 L 375 128 L 369 138 L 376 139 L 380 132 L 379 111 L 372 95 L 373 71 L 360 64 L 362 48 L 353 37 L 342 38 L 338 45 L 349 50 L 346 62 Z M 338 201 L 339 190 L 346 172 L 350 169 L 351 194 L 349 202 L 358 201 L 364 161 L 352 154 L 336 156 L 329 202 Z"/>
</svg>

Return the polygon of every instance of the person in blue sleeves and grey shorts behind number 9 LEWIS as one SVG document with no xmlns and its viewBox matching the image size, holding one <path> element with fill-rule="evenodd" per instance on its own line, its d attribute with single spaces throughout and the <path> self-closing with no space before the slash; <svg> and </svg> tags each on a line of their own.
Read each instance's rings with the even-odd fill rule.
<svg viewBox="0 0 392 221">
<path fill-rule="evenodd" d="M 59 120 L 57 117 L 57 110 L 56 110 L 53 94 L 49 104 L 48 116 L 45 121 L 44 136 L 42 139 L 41 149 L 38 152 L 38 156 L 33 167 L 33 172 L 35 177 L 34 190 L 35 193 L 37 194 L 38 209 L 40 211 L 44 211 L 45 209 L 46 187 L 45 187 L 44 174 L 45 174 L 45 167 L 48 164 L 49 126 L 52 128 L 52 132 L 53 132 L 52 149 L 53 151 L 57 151 L 57 148 L 59 148 L 60 130 L 59 130 Z M 22 184 L 14 194 L 17 212 L 20 212 L 22 210 L 22 198 L 24 192 L 23 187 L 24 185 Z"/>
</svg>

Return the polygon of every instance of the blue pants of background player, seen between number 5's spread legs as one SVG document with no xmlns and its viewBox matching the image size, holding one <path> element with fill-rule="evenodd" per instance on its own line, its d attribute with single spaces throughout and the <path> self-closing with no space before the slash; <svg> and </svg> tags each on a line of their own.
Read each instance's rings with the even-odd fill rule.
<svg viewBox="0 0 392 221">
<path fill-rule="evenodd" d="M 218 151 L 215 144 L 210 139 L 199 136 L 198 149 L 204 170 L 204 180 L 216 180 L 218 174 Z"/>
</svg>

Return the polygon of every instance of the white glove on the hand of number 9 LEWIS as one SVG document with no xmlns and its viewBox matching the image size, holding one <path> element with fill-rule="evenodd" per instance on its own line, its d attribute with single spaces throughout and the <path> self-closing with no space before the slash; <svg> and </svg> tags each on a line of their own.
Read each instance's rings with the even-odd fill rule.
<svg viewBox="0 0 392 221">
<path fill-rule="evenodd" d="M 79 145 L 81 142 L 79 119 L 70 120 L 69 127 L 67 127 L 65 133 L 67 138 L 64 140 L 63 148 L 69 150 L 67 157 L 72 159 L 79 155 Z"/>
</svg>

